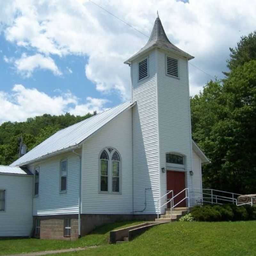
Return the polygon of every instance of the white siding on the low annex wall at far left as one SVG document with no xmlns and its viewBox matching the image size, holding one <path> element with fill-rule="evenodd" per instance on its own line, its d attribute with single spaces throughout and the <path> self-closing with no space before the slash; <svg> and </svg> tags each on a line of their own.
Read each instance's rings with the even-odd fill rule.
<svg viewBox="0 0 256 256">
<path fill-rule="evenodd" d="M 0 174 L 5 209 L 0 211 L 0 236 L 30 236 L 33 227 L 33 175 Z"/>
</svg>

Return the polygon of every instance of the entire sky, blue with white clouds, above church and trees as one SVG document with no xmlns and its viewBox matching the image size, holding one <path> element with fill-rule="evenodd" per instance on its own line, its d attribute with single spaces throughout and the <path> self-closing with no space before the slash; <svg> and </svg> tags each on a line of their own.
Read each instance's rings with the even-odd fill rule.
<svg viewBox="0 0 256 256">
<path fill-rule="evenodd" d="M 196 58 L 190 94 L 222 78 L 229 47 L 254 30 L 256 3 L 221 0 L 95 0 L 150 35 L 158 10 L 170 41 Z M 0 124 L 100 112 L 130 99 L 124 60 L 148 38 L 87 0 L 0 3 Z"/>
</svg>

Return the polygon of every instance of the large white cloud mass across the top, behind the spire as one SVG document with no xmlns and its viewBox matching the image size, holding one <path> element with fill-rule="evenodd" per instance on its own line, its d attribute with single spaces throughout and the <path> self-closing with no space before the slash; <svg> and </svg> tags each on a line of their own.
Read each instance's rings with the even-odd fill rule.
<svg viewBox="0 0 256 256">
<path fill-rule="evenodd" d="M 169 39 L 212 76 L 222 75 L 228 48 L 256 23 L 255 1 L 94 1 L 147 35 L 158 10 Z M 130 98 L 129 68 L 123 61 L 146 44 L 145 36 L 86 0 L 13 0 L 0 7 L 7 40 L 46 56 L 86 55 L 85 74 L 97 90 Z M 209 79 L 190 66 L 191 92 Z"/>
</svg>

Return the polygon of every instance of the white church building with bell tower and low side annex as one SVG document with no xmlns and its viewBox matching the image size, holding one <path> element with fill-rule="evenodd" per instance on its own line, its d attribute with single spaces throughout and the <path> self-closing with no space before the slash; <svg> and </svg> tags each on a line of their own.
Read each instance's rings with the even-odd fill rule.
<svg viewBox="0 0 256 256">
<path fill-rule="evenodd" d="M 172 206 L 196 204 L 209 160 L 191 137 L 193 58 L 168 40 L 157 17 L 148 43 L 124 62 L 130 102 L 0 166 L 0 236 L 76 239 L 106 222 L 155 220 L 180 192 Z"/>
</svg>

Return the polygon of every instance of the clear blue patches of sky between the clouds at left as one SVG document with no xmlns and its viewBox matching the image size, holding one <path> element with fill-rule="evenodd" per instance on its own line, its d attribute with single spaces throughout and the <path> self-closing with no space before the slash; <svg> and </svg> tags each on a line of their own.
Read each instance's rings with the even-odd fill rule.
<svg viewBox="0 0 256 256">
<path fill-rule="evenodd" d="M 36 68 L 33 75 L 26 77 L 13 67 L 12 64 L 4 61 L 4 57 L 19 58 L 24 51 L 28 55 L 36 54 L 33 49 L 24 49 L 17 47 L 15 44 L 8 42 L 4 34 L 0 36 L 0 77 L 1 87 L 4 92 L 11 93 L 14 84 L 23 84 L 26 88 L 36 88 L 38 91 L 45 92 L 50 96 L 57 96 L 60 92 L 71 91 L 80 101 L 86 99 L 87 96 L 93 98 L 102 97 L 102 93 L 95 90 L 95 85 L 85 76 L 84 66 L 88 62 L 88 56 L 67 55 L 64 57 L 53 56 L 52 59 L 61 70 L 61 76 L 55 76 L 51 70 Z M 127 72 L 129 68 L 127 67 Z M 108 95 L 111 102 L 106 104 L 106 107 L 115 106 L 120 103 L 117 93 L 112 92 Z"/>
</svg>

